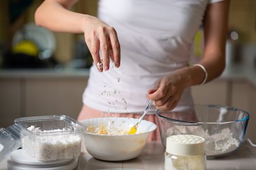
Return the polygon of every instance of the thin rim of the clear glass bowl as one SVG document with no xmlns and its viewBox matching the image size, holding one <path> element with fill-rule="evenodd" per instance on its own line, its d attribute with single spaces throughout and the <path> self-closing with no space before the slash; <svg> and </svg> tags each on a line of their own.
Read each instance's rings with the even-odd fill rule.
<svg viewBox="0 0 256 170">
<path fill-rule="evenodd" d="M 201 124 L 230 124 L 233 122 L 244 122 L 244 121 L 248 121 L 248 119 L 250 118 L 250 114 L 246 111 L 244 111 L 243 109 L 238 109 L 236 107 L 231 107 L 231 106 L 225 106 L 225 105 L 203 105 L 203 104 L 194 104 L 192 108 L 195 108 L 195 106 L 200 106 L 200 107 L 214 107 L 214 108 L 225 108 L 228 110 L 233 110 L 233 111 L 239 111 L 239 112 L 243 112 L 246 116 L 242 119 L 239 120 L 232 120 L 232 121 L 225 121 L 225 122 L 193 122 L 193 121 L 187 121 L 187 120 L 177 120 L 174 118 L 167 118 L 166 116 L 162 116 L 160 115 L 160 112 L 162 112 L 160 109 L 156 110 L 156 115 L 158 116 L 158 118 L 163 118 L 165 120 L 167 120 L 168 122 L 173 122 L 175 124 L 180 124 L 180 125 L 194 125 L 194 126 L 198 126 Z"/>
</svg>

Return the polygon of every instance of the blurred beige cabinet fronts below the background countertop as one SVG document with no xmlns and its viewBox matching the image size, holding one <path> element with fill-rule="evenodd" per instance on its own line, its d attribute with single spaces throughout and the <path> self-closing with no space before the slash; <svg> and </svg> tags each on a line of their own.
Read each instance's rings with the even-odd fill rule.
<svg viewBox="0 0 256 170">
<path fill-rule="evenodd" d="M 0 127 L 13 124 L 15 118 L 65 114 L 77 118 L 87 76 L 36 78 L 0 78 Z M 256 87 L 246 80 L 217 79 L 193 86 L 196 104 L 228 105 L 244 109 L 251 118 L 246 137 L 256 142 Z"/>
</svg>

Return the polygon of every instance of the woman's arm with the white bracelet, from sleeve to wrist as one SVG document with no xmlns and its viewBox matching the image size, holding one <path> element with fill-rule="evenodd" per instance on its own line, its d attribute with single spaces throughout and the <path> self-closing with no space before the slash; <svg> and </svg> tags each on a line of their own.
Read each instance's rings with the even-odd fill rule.
<svg viewBox="0 0 256 170">
<path fill-rule="evenodd" d="M 229 1 L 221 1 L 208 5 L 205 13 L 204 35 L 205 48 L 203 59 L 199 64 L 207 71 L 209 82 L 217 78 L 225 69 L 225 43 L 227 35 Z M 178 70 L 184 75 L 186 86 L 201 84 L 205 79 L 205 73 L 201 67 L 191 66 L 184 70 Z"/>
</svg>

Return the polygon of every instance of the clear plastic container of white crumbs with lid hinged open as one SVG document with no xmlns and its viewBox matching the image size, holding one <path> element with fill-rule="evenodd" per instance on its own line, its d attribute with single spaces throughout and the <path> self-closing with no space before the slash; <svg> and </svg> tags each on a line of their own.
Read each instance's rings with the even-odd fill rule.
<svg viewBox="0 0 256 170">
<path fill-rule="evenodd" d="M 0 129 L 0 161 L 22 147 L 36 160 L 64 160 L 81 154 L 85 126 L 65 116 L 18 118 L 12 126 Z"/>
</svg>

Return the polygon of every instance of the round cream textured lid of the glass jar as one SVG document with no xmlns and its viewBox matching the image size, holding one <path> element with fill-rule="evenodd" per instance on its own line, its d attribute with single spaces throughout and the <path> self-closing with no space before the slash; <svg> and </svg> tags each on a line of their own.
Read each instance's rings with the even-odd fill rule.
<svg viewBox="0 0 256 170">
<path fill-rule="evenodd" d="M 204 154 L 204 141 L 196 135 L 171 135 L 167 137 L 166 152 L 181 156 Z"/>
</svg>

